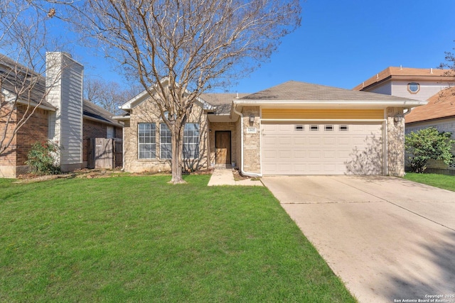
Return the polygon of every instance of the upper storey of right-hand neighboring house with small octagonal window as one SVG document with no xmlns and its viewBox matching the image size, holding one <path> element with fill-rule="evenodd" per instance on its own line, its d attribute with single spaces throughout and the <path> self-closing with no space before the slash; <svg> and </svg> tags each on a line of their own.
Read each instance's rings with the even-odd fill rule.
<svg viewBox="0 0 455 303">
<path fill-rule="evenodd" d="M 455 84 L 450 70 L 433 68 L 387 67 L 358 84 L 353 90 L 376 92 L 416 100 L 428 100 L 441 89 Z"/>
</svg>

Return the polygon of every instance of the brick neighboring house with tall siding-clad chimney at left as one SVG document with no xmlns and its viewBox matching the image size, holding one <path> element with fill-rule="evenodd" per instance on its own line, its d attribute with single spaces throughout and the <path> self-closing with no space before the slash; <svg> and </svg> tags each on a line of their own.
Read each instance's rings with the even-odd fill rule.
<svg viewBox="0 0 455 303">
<path fill-rule="evenodd" d="M 122 138 L 123 126 L 112 120 L 112 114 L 82 99 L 84 67 L 66 53 L 47 53 L 46 60 L 47 77 L 37 76 L 38 82 L 31 92 L 31 106 L 36 107 L 43 99 L 46 87 L 48 96 L 38 104 L 35 113 L 19 129 L 6 153 L 0 156 L 0 177 L 16 177 L 27 172 L 27 154 L 37 141 L 50 139 L 63 146 L 56 161 L 61 170 L 67 172 L 87 167 L 89 138 Z M 3 75 L 7 75 L 8 69 L 14 65 L 16 63 L 13 60 L 0 56 L 0 72 Z M 14 78 L 12 75 L 9 81 L 2 84 L 4 111 L 11 110 L 9 101 L 15 97 Z M 28 98 L 19 99 L 13 109 L 13 124 L 23 115 L 27 104 Z M 0 129 L 2 123 L 5 121 L 0 116 Z"/>
</svg>

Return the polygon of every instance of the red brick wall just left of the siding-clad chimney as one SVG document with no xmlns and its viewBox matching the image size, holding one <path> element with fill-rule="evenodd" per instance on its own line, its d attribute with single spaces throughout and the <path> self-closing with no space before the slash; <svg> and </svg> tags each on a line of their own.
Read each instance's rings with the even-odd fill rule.
<svg viewBox="0 0 455 303">
<path fill-rule="evenodd" d="M 31 110 L 31 109 L 29 109 Z M 25 114 L 26 106 L 17 106 L 18 119 Z M 17 135 L 17 159 L 16 165 L 25 165 L 27 153 L 31 145 L 37 141 L 47 141 L 49 136 L 49 112 L 44 109 L 36 109 L 35 113 L 22 126 Z M 28 112 L 30 114 L 30 111 Z M 27 114 L 27 115 L 28 115 Z"/>
</svg>

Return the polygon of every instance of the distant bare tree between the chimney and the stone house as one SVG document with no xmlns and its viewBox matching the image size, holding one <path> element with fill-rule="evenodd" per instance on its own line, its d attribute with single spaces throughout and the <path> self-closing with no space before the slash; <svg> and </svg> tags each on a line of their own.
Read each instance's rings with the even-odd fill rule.
<svg viewBox="0 0 455 303">
<path fill-rule="evenodd" d="M 143 90 L 143 89 L 142 89 Z M 118 82 L 102 79 L 85 79 L 84 97 L 88 101 L 101 106 L 112 114 L 120 114 L 119 106 L 139 94 L 139 87 L 132 85 L 124 89 Z"/>
</svg>

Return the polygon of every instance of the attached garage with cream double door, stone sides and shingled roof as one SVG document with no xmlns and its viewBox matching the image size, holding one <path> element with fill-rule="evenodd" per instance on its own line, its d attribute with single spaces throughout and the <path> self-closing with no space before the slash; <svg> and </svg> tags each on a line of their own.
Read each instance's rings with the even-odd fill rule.
<svg viewBox="0 0 455 303">
<path fill-rule="evenodd" d="M 232 101 L 239 169 L 262 175 L 405 173 L 405 112 L 426 104 L 289 81 Z"/>
</svg>

